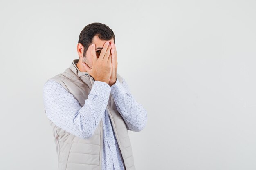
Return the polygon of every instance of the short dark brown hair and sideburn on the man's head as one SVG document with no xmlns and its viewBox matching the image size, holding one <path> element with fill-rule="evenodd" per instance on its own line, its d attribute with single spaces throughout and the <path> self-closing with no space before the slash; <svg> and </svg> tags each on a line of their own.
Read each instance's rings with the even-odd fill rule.
<svg viewBox="0 0 256 170">
<path fill-rule="evenodd" d="M 107 25 L 94 22 L 83 28 L 79 35 L 78 43 L 81 43 L 84 47 L 83 57 L 85 57 L 88 47 L 92 44 L 92 39 L 95 35 L 98 35 L 101 40 L 110 40 L 114 39 L 115 43 L 115 34 Z"/>
</svg>

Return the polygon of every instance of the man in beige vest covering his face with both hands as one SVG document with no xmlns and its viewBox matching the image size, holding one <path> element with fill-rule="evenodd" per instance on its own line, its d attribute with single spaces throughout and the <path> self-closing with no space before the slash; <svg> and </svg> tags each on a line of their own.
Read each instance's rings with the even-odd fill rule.
<svg viewBox="0 0 256 170">
<path fill-rule="evenodd" d="M 85 26 L 77 52 L 79 59 L 43 88 L 58 170 L 135 170 L 127 130 L 144 129 L 147 113 L 117 73 L 113 31 Z"/>
</svg>

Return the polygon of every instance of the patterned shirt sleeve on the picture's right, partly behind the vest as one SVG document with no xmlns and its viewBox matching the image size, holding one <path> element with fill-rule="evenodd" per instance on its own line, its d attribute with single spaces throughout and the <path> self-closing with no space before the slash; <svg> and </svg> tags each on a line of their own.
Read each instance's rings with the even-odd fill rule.
<svg viewBox="0 0 256 170">
<path fill-rule="evenodd" d="M 111 86 L 111 94 L 117 106 L 117 111 L 127 125 L 127 129 L 134 132 L 144 129 L 147 122 L 147 112 L 132 96 L 124 79 L 123 85 L 117 79 L 116 83 Z"/>
</svg>

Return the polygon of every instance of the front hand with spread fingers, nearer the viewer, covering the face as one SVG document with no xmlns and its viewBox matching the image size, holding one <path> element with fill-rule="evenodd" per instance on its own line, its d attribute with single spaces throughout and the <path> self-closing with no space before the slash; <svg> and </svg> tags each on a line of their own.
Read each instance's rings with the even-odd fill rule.
<svg viewBox="0 0 256 170">
<path fill-rule="evenodd" d="M 108 84 L 112 71 L 111 46 L 109 42 L 105 42 L 99 58 L 96 56 L 95 44 L 91 44 L 88 48 L 88 52 L 92 57 L 92 68 L 87 64 L 82 63 L 85 70 L 94 78 L 95 81 L 106 82 Z"/>
</svg>

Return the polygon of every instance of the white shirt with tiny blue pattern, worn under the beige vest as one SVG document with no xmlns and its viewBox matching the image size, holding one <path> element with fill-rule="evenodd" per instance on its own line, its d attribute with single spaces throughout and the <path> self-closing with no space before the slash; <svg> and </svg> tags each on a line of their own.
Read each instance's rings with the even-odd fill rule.
<svg viewBox="0 0 256 170">
<path fill-rule="evenodd" d="M 124 170 L 124 162 L 106 110 L 110 93 L 127 129 L 135 132 L 142 130 L 146 126 L 147 112 L 136 102 L 124 79 L 123 85 L 117 79 L 111 87 L 106 82 L 94 81 L 83 107 L 63 86 L 49 80 L 43 88 L 45 112 L 58 127 L 83 139 L 94 134 L 102 119 L 102 170 Z"/>
</svg>

